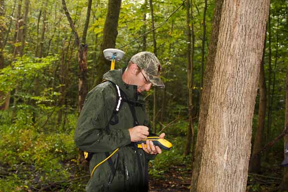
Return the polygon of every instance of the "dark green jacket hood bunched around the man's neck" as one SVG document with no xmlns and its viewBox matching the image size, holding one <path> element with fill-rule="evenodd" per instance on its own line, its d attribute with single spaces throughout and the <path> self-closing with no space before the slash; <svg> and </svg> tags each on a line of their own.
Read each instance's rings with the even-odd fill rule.
<svg viewBox="0 0 288 192">
<path fill-rule="evenodd" d="M 103 80 L 111 81 L 119 86 L 119 88 L 126 94 L 130 101 L 144 103 L 144 98 L 141 93 L 137 92 L 137 85 L 126 84 L 122 79 L 122 74 L 126 67 L 116 70 L 109 70 L 103 75 Z"/>
</svg>

